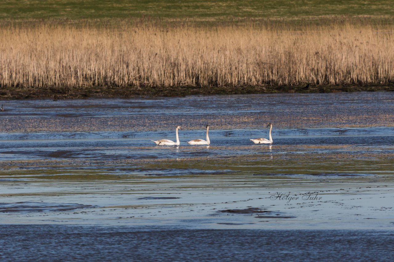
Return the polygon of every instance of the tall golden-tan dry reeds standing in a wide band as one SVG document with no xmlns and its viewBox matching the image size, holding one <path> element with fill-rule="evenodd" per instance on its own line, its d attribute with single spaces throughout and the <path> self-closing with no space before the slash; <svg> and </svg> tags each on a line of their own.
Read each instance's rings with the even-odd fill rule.
<svg viewBox="0 0 394 262">
<path fill-rule="evenodd" d="M 394 27 L 0 29 L 0 85 L 243 86 L 389 83 Z"/>
</svg>

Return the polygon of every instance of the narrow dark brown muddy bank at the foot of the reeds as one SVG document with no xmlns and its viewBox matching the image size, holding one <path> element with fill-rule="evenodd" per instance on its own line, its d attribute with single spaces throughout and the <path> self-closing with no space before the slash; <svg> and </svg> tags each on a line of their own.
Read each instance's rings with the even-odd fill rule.
<svg viewBox="0 0 394 262">
<path fill-rule="evenodd" d="M 305 84 L 302 86 L 129 86 L 129 87 L 80 87 L 80 88 L 0 88 L 0 99 L 73 99 L 73 98 L 135 98 L 135 97 L 182 97 L 186 95 L 235 95 L 259 93 L 331 93 L 331 92 L 377 92 L 394 91 L 392 85 L 340 85 L 322 86 Z"/>
</svg>

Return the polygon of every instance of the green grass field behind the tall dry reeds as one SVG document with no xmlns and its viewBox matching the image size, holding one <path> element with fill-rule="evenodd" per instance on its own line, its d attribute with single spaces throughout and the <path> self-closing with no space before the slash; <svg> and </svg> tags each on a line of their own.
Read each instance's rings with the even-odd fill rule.
<svg viewBox="0 0 394 262">
<path fill-rule="evenodd" d="M 0 20 L 30 19 L 191 19 L 230 21 L 258 18 L 390 18 L 392 0 L 3 0 Z"/>
</svg>

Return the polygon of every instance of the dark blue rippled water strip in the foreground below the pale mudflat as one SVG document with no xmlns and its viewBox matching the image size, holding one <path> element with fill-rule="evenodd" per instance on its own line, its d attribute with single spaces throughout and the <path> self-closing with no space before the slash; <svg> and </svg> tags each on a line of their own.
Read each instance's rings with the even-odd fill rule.
<svg viewBox="0 0 394 262">
<path fill-rule="evenodd" d="M 2 261 L 391 261 L 392 231 L 1 226 Z M 34 239 L 35 244 L 31 245 Z"/>
</svg>

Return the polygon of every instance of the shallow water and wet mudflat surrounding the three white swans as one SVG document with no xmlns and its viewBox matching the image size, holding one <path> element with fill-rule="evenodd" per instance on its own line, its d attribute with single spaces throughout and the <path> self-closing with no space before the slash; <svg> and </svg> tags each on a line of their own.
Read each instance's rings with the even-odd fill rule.
<svg viewBox="0 0 394 262">
<path fill-rule="evenodd" d="M 4 102 L 0 224 L 394 227 L 394 93 Z M 268 138 L 254 145 L 250 138 Z M 190 146 L 204 138 L 211 145 Z M 151 139 L 181 145 L 160 147 Z M 234 214 L 258 208 L 267 214 Z"/>
</svg>

